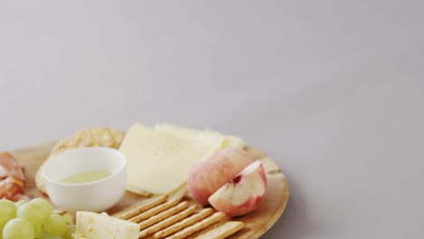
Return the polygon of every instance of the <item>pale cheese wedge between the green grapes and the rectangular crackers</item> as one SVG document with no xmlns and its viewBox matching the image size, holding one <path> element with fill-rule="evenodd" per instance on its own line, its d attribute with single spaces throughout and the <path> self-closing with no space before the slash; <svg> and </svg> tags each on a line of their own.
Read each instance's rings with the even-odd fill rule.
<svg viewBox="0 0 424 239">
<path fill-rule="evenodd" d="M 73 238 L 137 239 L 140 225 L 106 214 L 76 213 L 76 232 Z"/>
</svg>

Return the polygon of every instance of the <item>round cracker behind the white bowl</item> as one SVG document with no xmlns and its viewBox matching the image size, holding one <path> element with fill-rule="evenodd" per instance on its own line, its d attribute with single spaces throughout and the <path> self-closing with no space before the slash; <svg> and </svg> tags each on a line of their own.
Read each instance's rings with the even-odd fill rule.
<svg viewBox="0 0 424 239">
<path fill-rule="evenodd" d="M 56 145 L 54 145 L 47 160 L 55 155 L 59 155 L 64 151 L 72 148 L 120 148 L 120 143 L 122 142 L 124 136 L 125 133 L 113 128 L 93 127 L 82 129 L 74 133 L 71 137 L 63 139 L 59 141 Z M 47 195 L 47 193 L 45 192 L 44 180 L 42 175 L 43 164 L 38 167 L 38 170 L 35 174 L 35 185 L 37 186 L 38 190 L 40 190 L 43 194 Z"/>
</svg>

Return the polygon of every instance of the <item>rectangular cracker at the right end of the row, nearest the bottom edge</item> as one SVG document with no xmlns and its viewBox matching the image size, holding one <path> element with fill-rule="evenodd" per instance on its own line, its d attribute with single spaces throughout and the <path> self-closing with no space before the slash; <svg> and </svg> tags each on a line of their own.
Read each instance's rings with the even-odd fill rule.
<svg viewBox="0 0 424 239">
<path fill-rule="evenodd" d="M 224 239 L 236 232 L 240 231 L 245 224 L 242 222 L 227 221 L 223 223 L 217 223 L 206 228 L 204 232 L 193 235 L 189 239 Z"/>
</svg>

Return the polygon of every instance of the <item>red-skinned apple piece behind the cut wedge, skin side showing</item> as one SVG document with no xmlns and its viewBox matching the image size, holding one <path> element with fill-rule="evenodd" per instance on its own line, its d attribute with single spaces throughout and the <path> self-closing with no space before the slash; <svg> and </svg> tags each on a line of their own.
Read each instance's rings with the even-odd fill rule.
<svg viewBox="0 0 424 239">
<path fill-rule="evenodd" d="M 191 168 L 188 192 L 198 203 L 209 205 L 209 196 L 253 162 L 255 159 L 242 148 L 231 147 L 218 151 Z"/>
</svg>

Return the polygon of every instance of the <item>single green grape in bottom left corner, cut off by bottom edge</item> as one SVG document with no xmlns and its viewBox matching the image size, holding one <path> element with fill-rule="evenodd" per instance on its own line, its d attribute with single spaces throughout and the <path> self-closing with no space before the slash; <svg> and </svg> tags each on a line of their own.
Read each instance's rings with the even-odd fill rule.
<svg viewBox="0 0 424 239">
<path fill-rule="evenodd" d="M 33 225 L 23 218 L 14 218 L 3 228 L 3 239 L 34 239 Z"/>
</svg>

